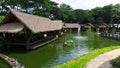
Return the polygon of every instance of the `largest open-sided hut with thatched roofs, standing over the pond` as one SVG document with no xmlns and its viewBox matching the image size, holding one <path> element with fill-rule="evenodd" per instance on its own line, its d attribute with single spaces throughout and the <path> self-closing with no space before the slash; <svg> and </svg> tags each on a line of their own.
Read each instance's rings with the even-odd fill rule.
<svg viewBox="0 0 120 68">
<path fill-rule="evenodd" d="M 0 24 L 0 34 L 7 45 L 35 49 L 55 40 L 62 27 L 62 21 L 51 21 L 40 16 L 9 11 Z"/>
</svg>

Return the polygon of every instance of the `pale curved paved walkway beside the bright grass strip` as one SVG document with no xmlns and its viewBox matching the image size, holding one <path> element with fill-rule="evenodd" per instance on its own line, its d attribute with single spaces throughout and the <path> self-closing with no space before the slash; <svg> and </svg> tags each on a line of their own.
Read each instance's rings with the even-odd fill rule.
<svg viewBox="0 0 120 68">
<path fill-rule="evenodd" d="M 112 68 L 109 61 L 115 59 L 118 56 L 120 56 L 120 49 L 106 52 L 104 54 L 99 55 L 95 59 L 92 59 L 86 65 L 86 68 Z"/>
</svg>

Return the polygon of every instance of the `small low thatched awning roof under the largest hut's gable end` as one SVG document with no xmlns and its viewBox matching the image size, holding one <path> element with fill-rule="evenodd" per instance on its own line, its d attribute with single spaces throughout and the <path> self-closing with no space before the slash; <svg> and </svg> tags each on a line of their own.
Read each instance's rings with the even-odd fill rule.
<svg viewBox="0 0 120 68">
<path fill-rule="evenodd" d="M 24 26 L 21 23 L 8 23 L 0 26 L 0 32 L 17 33 L 23 30 Z"/>
</svg>

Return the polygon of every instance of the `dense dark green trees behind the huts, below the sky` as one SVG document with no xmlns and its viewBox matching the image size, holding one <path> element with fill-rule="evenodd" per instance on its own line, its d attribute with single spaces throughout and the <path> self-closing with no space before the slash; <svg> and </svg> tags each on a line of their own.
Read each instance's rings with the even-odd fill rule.
<svg viewBox="0 0 120 68">
<path fill-rule="evenodd" d="M 44 16 L 52 20 L 62 20 L 69 23 L 92 24 L 119 23 L 120 4 L 96 7 L 91 10 L 72 9 L 71 6 L 50 0 L 1 0 L 0 15 L 4 15 L 9 7 L 26 13 Z M 9 7 L 8 7 L 9 6 Z M 18 8 L 19 7 L 19 8 Z"/>
</svg>

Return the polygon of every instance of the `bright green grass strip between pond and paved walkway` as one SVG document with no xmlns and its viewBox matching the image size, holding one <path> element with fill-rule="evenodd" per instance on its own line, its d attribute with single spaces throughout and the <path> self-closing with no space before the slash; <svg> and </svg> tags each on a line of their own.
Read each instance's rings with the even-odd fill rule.
<svg viewBox="0 0 120 68">
<path fill-rule="evenodd" d="M 67 63 L 61 64 L 54 66 L 52 68 L 84 68 L 84 66 L 93 58 L 97 57 L 100 54 L 103 54 L 105 52 L 118 49 L 120 46 L 110 46 L 110 47 L 105 47 L 101 49 L 94 50 L 86 55 L 83 55 L 81 57 L 78 57 L 74 60 L 71 60 Z"/>
</svg>

